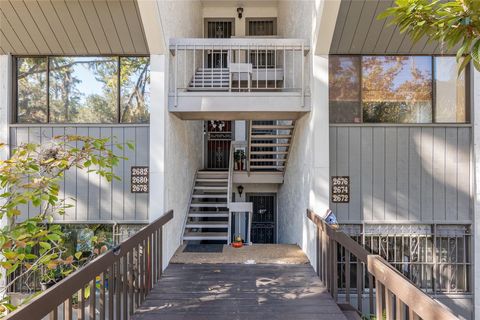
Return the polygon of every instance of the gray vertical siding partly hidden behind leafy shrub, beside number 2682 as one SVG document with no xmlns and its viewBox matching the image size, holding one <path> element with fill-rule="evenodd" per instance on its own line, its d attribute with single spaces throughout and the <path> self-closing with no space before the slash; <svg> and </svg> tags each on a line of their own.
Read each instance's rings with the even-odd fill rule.
<svg viewBox="0 0 480 320">
<path fill-rule="evenodd" d="M 70 170 L 60 182 L 61 196 L 67 203 L 74 204 L 59 222 L 148 222 L 148 195 L 130 192 L 130 167 L 149 164 L 149 127 L 142 126 L 12 126 L 10 128 L 13 147 L 26 142 L 42 143 L 53 136 L 72 134 L 92 137 L 109 137 L 116 143 L 132 142 L 135 149 L 112 150 L 126 160 L 114 169 L 121 181 L 108 182 L 85 170 Z M 81 147 L 78 145 L 77 147 Z M 23 217 L 33 216 L 36 208 L 22 206 Z M 38 210 L 38 209 L 37 209 Z"/>
</svg>

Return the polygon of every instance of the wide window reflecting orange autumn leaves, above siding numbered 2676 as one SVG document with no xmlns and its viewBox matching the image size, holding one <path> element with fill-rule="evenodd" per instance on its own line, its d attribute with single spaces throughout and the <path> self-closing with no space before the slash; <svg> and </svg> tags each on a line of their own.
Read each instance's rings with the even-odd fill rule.
<svg viewBox="0 0 480 320">
<path fill-rule="evenodd" d="M 455 57 L 330 56 L 331 123 L 465 123 Z"/>
</svg>

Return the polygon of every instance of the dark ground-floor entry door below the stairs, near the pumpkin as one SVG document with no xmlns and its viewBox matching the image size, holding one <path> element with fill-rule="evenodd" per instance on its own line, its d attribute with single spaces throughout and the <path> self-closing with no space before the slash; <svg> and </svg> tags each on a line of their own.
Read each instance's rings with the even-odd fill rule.
<svg viewBox="0 0 480 320">
<path fill-rule="evenodd" d="M 277 217 L 275 194 L 247 193 L 247 202 L 253 203 L 251 241 L 253 243 L 275 243 Z"/>
</svg>

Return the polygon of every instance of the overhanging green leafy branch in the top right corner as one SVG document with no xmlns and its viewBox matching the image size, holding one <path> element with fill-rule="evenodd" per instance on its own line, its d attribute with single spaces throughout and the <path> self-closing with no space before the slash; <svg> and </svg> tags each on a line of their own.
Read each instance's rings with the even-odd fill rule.
<svg viewBox="0 0 480 320">
<path fill-rule="evenodd" d="M 390 24 L 398 25 L 413 41 L 426 36 L 446 49 L 460 46 L 459 74 L 470 61 L 480 71 L 480 1 L 396 0 L 395 4 L 378 19 L 391 18 Z"/>
</svg>

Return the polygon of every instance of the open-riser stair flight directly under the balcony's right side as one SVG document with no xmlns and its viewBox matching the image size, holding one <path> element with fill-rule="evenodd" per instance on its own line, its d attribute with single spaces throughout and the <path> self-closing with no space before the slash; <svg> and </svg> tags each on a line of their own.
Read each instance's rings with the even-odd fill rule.
<svg viewBox="0 0 480 320">
<path fill-rule="evenodd" d="M 294 120 L 250 121 L 250 171 L 284 172 L 294 131 Z"/>
</svg>

